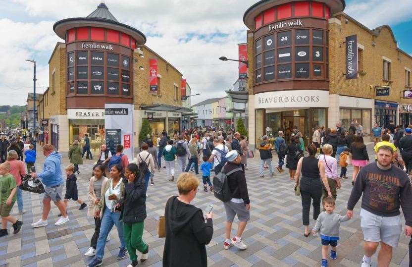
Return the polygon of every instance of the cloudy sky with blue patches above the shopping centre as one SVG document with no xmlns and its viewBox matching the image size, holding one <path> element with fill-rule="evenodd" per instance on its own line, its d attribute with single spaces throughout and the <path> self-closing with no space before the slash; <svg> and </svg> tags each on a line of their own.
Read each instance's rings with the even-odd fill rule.
<svg viewBox="0 0 412 267">
<path fill-rule="evenodd" d="M 0 105 L 25 105 L 33 92 L 33 64 L 37 61 L 36 92 L 49 85 L 48 61 L 56 42 L 54 22 L 85 17 L 100 0 L 1 0 Z M 192 105 L 223 97 L 238 76 L 237 44 L 246 42 L 243 14 L 257 0 L 105 0 L 119 22 L 147 37 L 146 45 L 174 65 L 187 79 Z M 412 54 L 412 0 L 347 0 L 344 12 L 370 29 L 388 24 L 399 47 Z"/>
</svg>

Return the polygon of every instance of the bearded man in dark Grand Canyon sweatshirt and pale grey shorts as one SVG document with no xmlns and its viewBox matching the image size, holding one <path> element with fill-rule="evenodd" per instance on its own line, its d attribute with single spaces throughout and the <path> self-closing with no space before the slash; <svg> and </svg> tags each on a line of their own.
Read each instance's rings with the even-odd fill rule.
<svg viewBox="0 0 412 267">
<path fill-rule="evenodd" d="M 399 208 L 405 215 L 405 235 L 412 234 L 412 190 L 405 171 L 392 165 L 394 151 L 382 146 L 378 161 L 361 168 L 348 201 L 348 217 L 362 196 L 361 228 L 364 256 L 362 267 L 372 266 L 371 257 L 378 245 L 378 265 L 389 266 L 392 248 L 398 246 L 402 232 Z"/>
</svg>

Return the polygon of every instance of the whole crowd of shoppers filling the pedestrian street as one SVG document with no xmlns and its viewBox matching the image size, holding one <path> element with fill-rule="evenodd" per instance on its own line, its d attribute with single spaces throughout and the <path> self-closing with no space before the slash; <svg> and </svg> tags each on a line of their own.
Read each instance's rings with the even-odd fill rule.
<svg viewBox="0 0 412 267">
<path fill-rule="evenodd" d="M 302 199 L 303 235 L 308 237 L 320 232 L 322 267 L 328 265 L 328 257 L 332 260 L 337 258 L 339 225 L 354 216 L 354 207 L 361 196 L 361 229 L 364 239 L 362 267 L 371 266 L 371 257 L 379 244 L 379 265 L 389 265 L 392 248 L 398 245 L 402 230 L 400 207 L 406 220 L 405 234 L 412 234 L 412 208 L 407 205 L 412 200 L 408 177 L 412 168 L 412 125 L 406 129 L 393 127 L 393 131 L 389 126 L 387 129 L 376 124 L 374 126 L 372 138 L 376 152 L 375 161 L 369 160 L 363 140 L 363 128 L 358 123 L 351 123 L 348 129 L 344 129 L 339 122 L 333 129 L 318 127 L 313 131 L 312 142 L 306 145 L 303 134 L 297 127 L 290 134 L 289 140 L 279 131 L 274 141 L 269 140 L 268 136 L 262 136 L 258 145 L 259 178 L 264 177 L 265 169 L 268 169 L 270 177 L 276 175 L 272 167 L 274 153 L 278 157 L 275 168 L 279 173 L 284 171 L 283 166 L 286 163 L 289 178 L 295 181 L 295 194 Z M 4 139 L 0 140 L 1 149 L 7 141 Z M 69 221 L 66 207 L 70 199 L 80 204 L 79 210 L 87 207 L 87 215 L 94 217 L 95 231 L 90 248 L 85 253 L 86 256 L 93 257 L 89 267 L 102 265 L 104 246 L 110 239 L 109 232 L 113 226 L 116 226 L 120 240 L 118 259 L 129 254 L 129 266 L 135 267 L 138 265 L 137 251 L 142 253 L 141 262 L 149 258 L 150 246 L 143 240 L 144 221 L 147 216 L 146 199 L 149 197 L 149 183 L 154 185 L 156 173 L 159 173 L 162 167 L 166 169 L 166 178 L 170 182 L 175 182 L 175 173 L 181 173 L 176 179 L 178 195 L 165 200 L 166 239 L 163 266 L 207 266 L 206 245 L 213 235 L 213 207 L 202 211 L 191 204 L 201 182 L 204 192 L 207 192 L 208 188 L 218 199 L 219 194 L 224 195 L 222 207 L 226 218 L 223 249 L 231 246 L 239 250 L 247 249 L 247 244 L 242 239 L 251 218 L 251 199 L 247 185 L 249 177 L 246 170 L 248 159 L 254 155 L 246 136 L 234 130 L 217 131 L 205 128 L 189 129 L 180 134 L 175 132 L 173 135 L 163 131 L 155 143 L 150 135 L 142 140 L 140 152 L 135 159 L 130 159 L 136 163 L 129 163 L 122 145 L 117 146 L 114 152 L 102 145 L 89 180 L 88 204 L 78 197 L 76 173 L 80 173 L 79 164 L 83 163 L 84 154 L 89 156 L 89 159 L 93 159 L 93 156 L 91 153 L 88 155 L 90 149 L 81 149 L 76 141 L 74 140 L 69 150 L 71 164 L 64 168 L 64 198 L 62 156 L 52 145 L 43 146 L 46 159 L 42 171 L 36 172 L 31 169 L 36 160 L 33 145 L 28 144 L 25 148 L 23 143 L 23 148 L 20 148 L 17 137 L 16 142 L 8 144 L 5 163 L 0 165 L 0 236 L 8 234 L 7 222 L 12 223 L 14 234 L 20 231 L 23 223 L 9 213 L 16 201 L 19 213 L 25 212 L 22 191 L 19 189 L 21 177 L 26 174 L 22 161 L 25 158 L 28 159 L 27 172 L 31 172 L 33 179 L 40 179 L 45 189 L 42 217 L 32 223 L 32 227 L 48 224 L 51 201 L 60 212 L 55 225 Z M 2 151 L 0 150 L 1 153 Z M 341 179 L 347 179 L 349 165 L 354 168 L 353 188 L 348 200 L 347 214 L 341 216 L 333 210 L 338 190 L 342 186 Z M 198 174 L 202 176 L 202 180 L 200 176 L 196 176 Z M 7 190 L 4 191 L 3 188 Z M 313 207 L 313 220 L 316 221 L 312 229 L 309 229 L 310 206 Z M 235 235 L 232 235 L 232 223 L 236 216 L 239 222 Z M 379 221 L 379 224 L 375 221 Z"/>
</svg>

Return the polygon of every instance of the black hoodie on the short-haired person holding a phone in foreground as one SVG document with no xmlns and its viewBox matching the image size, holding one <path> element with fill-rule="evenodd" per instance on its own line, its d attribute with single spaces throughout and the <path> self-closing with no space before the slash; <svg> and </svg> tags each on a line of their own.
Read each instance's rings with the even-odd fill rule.
<svg viewBox="0 0 412 267">
<path fill-rule="evenodd" d="M 206 244 L 213 236 L 212 219 L 203 218 L 202 210 L 169 198 L 164 210 L 166 241 L 163 267 L 207 267 Z"/>
</svg>

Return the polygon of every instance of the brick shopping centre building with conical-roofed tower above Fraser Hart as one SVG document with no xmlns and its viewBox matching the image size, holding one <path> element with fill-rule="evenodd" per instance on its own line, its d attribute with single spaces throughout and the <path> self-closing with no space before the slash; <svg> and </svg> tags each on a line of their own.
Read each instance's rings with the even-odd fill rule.
<svg viewBox="0 0 412 267">
<path fill-rule="evenodd" d="M 118 22 L 104 3 L 87 17 L 57 21 L 53 30 L 65 42 L 51 53 L 50 86 L 38 105 L 42 142 L 67 152 L 88 133 L 96 153 L 105 140 L 107 103 L 134 105 L 134 147 L 142 118 L 149 119 L 154 140 L 164 129 L 181 130 L 182 114 L 191 112 L 184 103 L 190 87 L 179 70 L 145 46 L 142 32 Z"/>
</svg>

